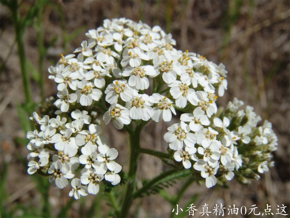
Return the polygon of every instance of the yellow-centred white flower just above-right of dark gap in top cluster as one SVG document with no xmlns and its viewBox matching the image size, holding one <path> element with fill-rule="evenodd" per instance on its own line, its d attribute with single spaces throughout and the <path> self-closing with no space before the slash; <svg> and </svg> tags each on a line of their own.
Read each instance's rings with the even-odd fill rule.
<svg viewBox="0 0 290 218">
<path fill-rule="evenodd" d="M 162 79 L 167 84 L 173 83 L 176 81 L 177 75 L 181 75 L 180 68 L 174 63 L 173 60 L 164 60 L 163 62 L 155 64 L 153 67 L 157 72 L 162 74 Z"/>
</svg>

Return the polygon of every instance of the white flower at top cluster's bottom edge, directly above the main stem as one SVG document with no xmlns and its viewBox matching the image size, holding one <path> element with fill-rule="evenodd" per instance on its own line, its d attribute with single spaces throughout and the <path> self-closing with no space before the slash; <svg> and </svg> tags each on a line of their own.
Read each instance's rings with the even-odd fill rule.
<svg viewBox="0 0 290 218">
<path fill-rule="evenodd" d="M 126 102 L 126 108 L 130 108 L 130 117 L 132 119 L 149 120 L 153 115 L 152 103 L 148 101 L 147 94 L 138 94 L 131 101 Z"/>
</svg>

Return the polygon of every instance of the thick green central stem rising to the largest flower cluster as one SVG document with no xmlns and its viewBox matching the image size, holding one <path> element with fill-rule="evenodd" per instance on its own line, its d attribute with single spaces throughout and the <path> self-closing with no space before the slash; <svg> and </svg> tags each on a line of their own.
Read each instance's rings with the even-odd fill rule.
<svg viewBox="0 0 290 218">
<path fill-rule="evenodd" d="M 123 199 L 123 205 L 121 209 L 121 213 L 119 217 L 127 217 L 129 213 L 129 209 L 133 202 L 133 191 L 136 186 L 136 174 L 137 174 L 137 166 L 139 159 L 139 149 L 140 149 L 140 133 L 144 124 L 140 124 L 136 126 L 135 130 L 130 133 L 130 165 L 128 172 L 128 180 L 126 187 L 126 194 Z"/>
</svg>

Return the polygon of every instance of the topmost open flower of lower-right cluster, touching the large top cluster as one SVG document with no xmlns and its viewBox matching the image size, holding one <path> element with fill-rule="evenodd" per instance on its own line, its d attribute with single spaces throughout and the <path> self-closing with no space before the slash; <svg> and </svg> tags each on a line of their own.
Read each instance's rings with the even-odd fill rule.
<svg viewBox="0 0 290 218">
<path fill-rule="evenodd" d="M 192 114 L 184 113 L 180 116 L 180 120 L 184 122 L 190 122 L 189 128 L 193 132 L 200 131 L 202 126 L 208 126 L 210 124 L 208 116 L 201 107 L 197 107 L 193 110 Z"/>
</svg>

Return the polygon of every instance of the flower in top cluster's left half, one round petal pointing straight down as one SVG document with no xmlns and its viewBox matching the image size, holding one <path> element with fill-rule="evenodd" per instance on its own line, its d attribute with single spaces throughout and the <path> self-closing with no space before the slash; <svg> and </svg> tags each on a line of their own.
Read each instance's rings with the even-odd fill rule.
<svg viewBox="0 0 290 218">
<path fill-rule="evenodd" d="M 86 80 L 94 79 L 94 84 L 97 88 L 102 88 L 105 86 L 104 76 L 112 77 L 108 70 L 99 65 L 93 65 L 93 70 L 90 70 L 85 74 Z"/>
</svg>

